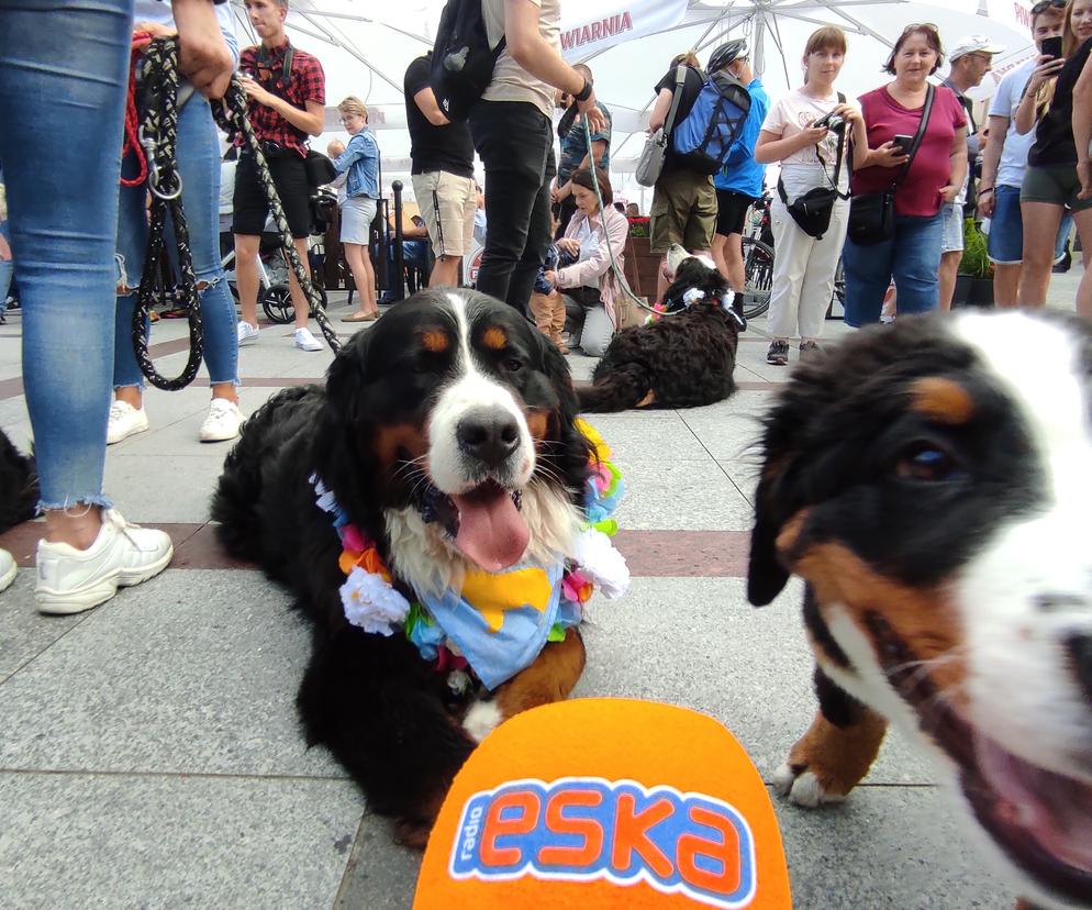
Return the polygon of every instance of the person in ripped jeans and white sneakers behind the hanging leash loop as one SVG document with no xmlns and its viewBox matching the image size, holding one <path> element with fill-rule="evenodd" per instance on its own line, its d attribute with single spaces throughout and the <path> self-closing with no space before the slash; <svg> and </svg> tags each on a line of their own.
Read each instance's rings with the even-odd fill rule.
<svg viewBox="0 0 1092 910">
<path fill-rule="evenodd" d="M 226 3 L 218 8 L 220 26 L 233 56 L 237 52 Z M 140 0 L 134 31 L 153 37 L 174 34 L 170 7 Z M 153 20 L 154 21 L 151 21 Z M 178 113 L 175 157 L 182 180 L 182 211 L 190 238 L 193 276 L 201 300 L 204 363 L 212 386 L 212 403 L 198 433 L 201 442 L 224 442 L 238 435 L 243 414 L 238 410 L 238 339 L 235 301 L 220 265 L 220 134 L 209 101 L 193 92 Z M 136 159 L 122 162 L 122 174 L 137 173 Z M 133 310 L 147 252 L 147 187 L 121 188 L 118 221 L 119 288 L 114 341 L 114 402 L 110 406 L 107 444 L 113 445 L 148 429 L 144 411 L 144 376 L 133 351 Z M 167 247 L 174 232 L 167 217 Z M 145 328 L 145 333 L 147 329 Z"/>
</svg>

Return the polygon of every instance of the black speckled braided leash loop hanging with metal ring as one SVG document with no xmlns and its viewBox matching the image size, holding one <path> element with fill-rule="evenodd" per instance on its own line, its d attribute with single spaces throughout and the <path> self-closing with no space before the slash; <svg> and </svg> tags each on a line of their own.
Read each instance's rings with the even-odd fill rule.
<svg viewBox="0 0 1092 910">
<path fill-rule="evenodd" d="M 144 274 L 133 308 L 133 351 L 141 373 L 157 389 L 178 391 L 185 389 L 201 366 L 201 300 L 193 275 L 190 235 L 182 212 L 182 178 L 177 171 L 175 144 L 178 140 L 178 37 L 157 38 L 146 52 L 145 78 L 149 100 L 141 126 L 141 144 L 148 163 L 148 188 L 152 209 L 148 218 L 148 246 L 144 259 Z M 148 355 L 148 314 L 159 297 L 163 262 L 166 256 L 164 225 L 170 213 L 178 245 L 178 267 L 181 273 L 182 303 L 189 323 L 190 349 L 182 371 L 174 379 L 161 376 Z"/>
</svg>

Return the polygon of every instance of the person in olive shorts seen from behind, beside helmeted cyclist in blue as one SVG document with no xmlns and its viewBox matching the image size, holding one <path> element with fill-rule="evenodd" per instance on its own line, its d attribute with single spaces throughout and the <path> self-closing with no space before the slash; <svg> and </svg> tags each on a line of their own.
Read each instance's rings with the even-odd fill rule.
<svg viewBox="0 0 1092 910">
<path fill-rule="evenodd" d="M 687 119 L 701 93 L 705 79 L 698 58 L 693 54 L 679 55 L 671 62 L 671 68 L 656 84 L 656 103 L 648 115 L 648 131 L 655 132 L 667 121 L 676 91 L 676 73 L 679 65 L 684 70 L 682 96 L 675 115 L 676 123 Z M 653 189 L 651 230 L 649 247 L 653 253 L 667 256 L 672 243 L 678 243 L 691 253 L 707 253 L 713 243 L 713 229 L 716 226 L 716 190 L 713 178 L 699 174 L 680 164 L 668 143 L 664 158 L 664 169 Z M 657 296 L 662 299 L 667 290 L 667 279 L 661 264 L 657 281 Z"/>
</svg>

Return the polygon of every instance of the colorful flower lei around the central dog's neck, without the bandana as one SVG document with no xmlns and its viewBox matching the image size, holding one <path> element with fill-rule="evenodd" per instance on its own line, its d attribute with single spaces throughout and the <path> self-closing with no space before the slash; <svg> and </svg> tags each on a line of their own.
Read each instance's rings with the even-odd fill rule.
<svg viewBox="0 0 1092 910">
<path fill-rule="evenodd" d="M 583 604 L 598 587 L 609 599 L 621 597 L 629 586 L 629 569 L 611 537 L 617 522 L 611 515 L 625 491 L 622 474 L 611 460 L 611 450 L 603 437 L 586 421 L 577 426 L 591 443 L 593 454 L 583 498 L 584 522 L 575 542 L 575 558 L 566 561 L 561 575 L 558 621 L 548 641 L 562 641 L 565 630 L 578 624 Z M 339 589 L 345 618 L 365 632 L 392 635 L 402 629 L 426 661 L 434 661 L 438 672 L 448 674 L 448 685 L 463 691 L 470 684 L 467 661 L 447 639 L 444 630 L 420 602 L 410 602 L 392 584 L 375 541 L 349 522 L 331 490 L 317 475 L 311 476 L 317 498 L 315 504 L 334 517 L 334 529 L 342 542 L 338 565 L 346 575 Z"/>
</svg>

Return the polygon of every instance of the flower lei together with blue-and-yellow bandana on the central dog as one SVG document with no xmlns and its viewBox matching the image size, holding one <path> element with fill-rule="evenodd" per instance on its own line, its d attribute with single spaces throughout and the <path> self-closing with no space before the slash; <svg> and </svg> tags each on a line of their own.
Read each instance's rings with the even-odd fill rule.
<svg viewBox="0 0 1092 910">
<path fill-rule="evenodd" d="M 333 515 L 342 542 L 345 619 L 370 634 L 389 636 L 401 630 L 422 658 L 448 674 L 452 689 L 461 692 L 471 681 L 468 669 L 492 689 L 528 666 L 547 642 L 564 641 L 597 587 L 610 599 L 625 593 L 629 569 L 611 542 L 617 531 L 611 515 L 624 492 L 622 475 L 602 436 L 582 420 L 577 425 L 593 454 L 573 558 L 558 554 L 547 565 L 521 563 L 499 573 L 471 569 L 460 590 L 414 591 L 412 602 L 394 586 L 375 541 L 348 521 L 333 491 L 312 475 L 315 504 Z"/>
</svg>

